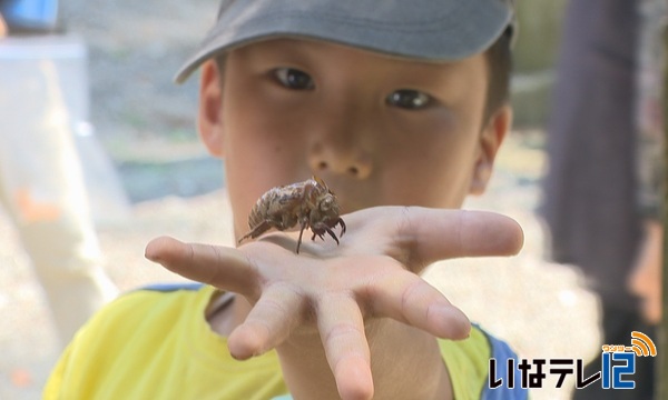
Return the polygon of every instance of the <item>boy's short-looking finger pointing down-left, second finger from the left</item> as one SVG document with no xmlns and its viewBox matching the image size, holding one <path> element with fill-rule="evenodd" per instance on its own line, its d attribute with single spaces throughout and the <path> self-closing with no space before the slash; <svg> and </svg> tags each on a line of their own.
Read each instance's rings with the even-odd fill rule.
<svg viewBox="0 0 668 400">
<path fill-rule="evenodd" d="M 304 304 L 303 297 L 286 284 L 267 288 L 244 323 L 229 334 L 230 354 L 245 360 L 276 348 L 301 322 Z"/>
</svg>

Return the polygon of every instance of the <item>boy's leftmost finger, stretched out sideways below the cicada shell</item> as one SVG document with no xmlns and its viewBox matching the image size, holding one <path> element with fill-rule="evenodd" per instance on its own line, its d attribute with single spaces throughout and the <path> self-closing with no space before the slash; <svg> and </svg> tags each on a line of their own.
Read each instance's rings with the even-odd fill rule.
<svg viewBox="0 0 668 400">
<path fill-rule="evenodd" d="M 184 243 L 169 237 L 146 246 L 147 259 L 181 277 L 212 284 L 246 297 L 257 292 L 255 268 L 234 248 Z"/>
</svg>

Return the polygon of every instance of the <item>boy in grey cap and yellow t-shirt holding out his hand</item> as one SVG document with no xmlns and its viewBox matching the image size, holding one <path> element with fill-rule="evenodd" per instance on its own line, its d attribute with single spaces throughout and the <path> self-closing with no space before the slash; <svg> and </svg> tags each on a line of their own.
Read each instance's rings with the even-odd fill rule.
<svg viewBox="0 0 668 400">
<path fill-rule="evenodd" d="M 482 192 L 509 130 L 511 20 L 501 0 L 224 1 L 177 80 L 202 68 L 199 132 L 225 160 L 236 238 L 266 190 L 314 174 L 347 231 L 298 254 L 298 232 L 237 249 L 156 239 L 150 260 L 212 287 L 120 298 L 81 330 L 46 398 L 505 393 L 483 388 L 508 347 L 419 274 L 521 247 L 508 218 L 445 210 Z"/>
</svg>

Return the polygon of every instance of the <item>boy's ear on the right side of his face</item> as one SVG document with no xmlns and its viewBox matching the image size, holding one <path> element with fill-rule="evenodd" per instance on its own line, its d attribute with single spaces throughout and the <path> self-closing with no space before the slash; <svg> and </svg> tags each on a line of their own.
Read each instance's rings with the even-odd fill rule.
<svg viewBox="0 0 668 400">
<path fill-rule="evenodd" d="M 480 153 L 473 169 L 473 178 L 469 192 L 471 194 L 482 194 L 492 177 L 494 159 L 497 151 L 501 147 L 503 139 L 510 131 L 512 124 L 512 108 L 503 106 L 492 114 L 487 121 L 480 136 Z"/>
</svg>

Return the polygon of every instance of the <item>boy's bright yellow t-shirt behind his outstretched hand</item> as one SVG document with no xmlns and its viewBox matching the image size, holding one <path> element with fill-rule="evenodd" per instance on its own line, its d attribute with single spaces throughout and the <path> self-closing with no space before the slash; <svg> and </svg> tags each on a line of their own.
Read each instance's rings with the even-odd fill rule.
<svg viewBox="0 0 668 400">
<path fill-rule="evenodd" d="M 288 392 L 275 351 L 237 361 L 205 311 L 215 288 L 190 284 L 130 292 L 75 337 L 45 388 L 45 399 L 257 399 Z M 458 400 L 478 399 L 490 344 L 478 328 L 441 341 Z"/>
</svg>

